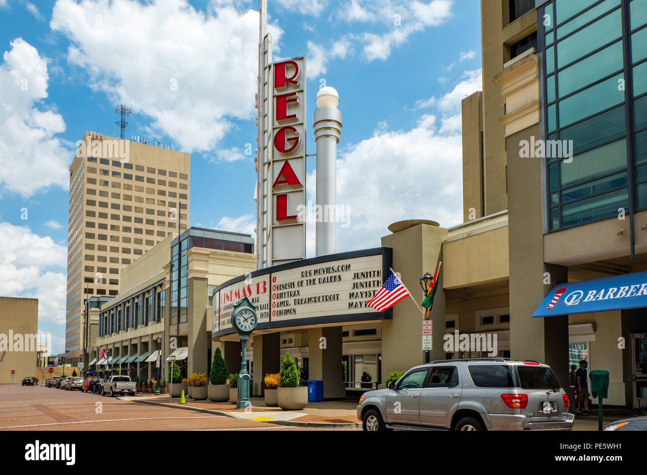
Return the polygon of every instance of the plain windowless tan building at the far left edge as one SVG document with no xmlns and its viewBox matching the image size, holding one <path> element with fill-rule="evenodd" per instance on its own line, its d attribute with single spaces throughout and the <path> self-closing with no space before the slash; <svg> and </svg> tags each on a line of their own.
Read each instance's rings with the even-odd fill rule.
<svg viewBox="0 0 647 475">
<path fill-rule="evenodd" d="M 0 385 L 14 384 L 23 377 L 41 379 L 39 370 L 38 299 L 0 297 Z"/>
</svg>

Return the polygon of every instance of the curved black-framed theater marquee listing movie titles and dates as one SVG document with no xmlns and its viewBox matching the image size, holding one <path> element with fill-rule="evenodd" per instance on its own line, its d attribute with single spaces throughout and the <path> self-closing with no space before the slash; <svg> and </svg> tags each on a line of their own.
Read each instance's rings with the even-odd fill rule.
<svg viewBox="0 0 647 475">
<path fill-rule="evenodd" d="M 234 305 L 248 297 L 256 306 L 258 329 L 391 318 L 366 302 L 389 275 L 391 249 L 334 254 L 261 269 L 217 287 L 212 335 L 234 332 Z"/>
</svg>

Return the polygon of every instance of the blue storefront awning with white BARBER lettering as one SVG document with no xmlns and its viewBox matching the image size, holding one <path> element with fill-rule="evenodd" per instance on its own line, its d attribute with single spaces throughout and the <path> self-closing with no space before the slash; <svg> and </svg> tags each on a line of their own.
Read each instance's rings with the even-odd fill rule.
<svg viewBox="0 0 647 475">
<path fill-rule="evenodd" d="M 647 307 L 647 272 L 554 286 L 532 317 Z"/>
</svg>

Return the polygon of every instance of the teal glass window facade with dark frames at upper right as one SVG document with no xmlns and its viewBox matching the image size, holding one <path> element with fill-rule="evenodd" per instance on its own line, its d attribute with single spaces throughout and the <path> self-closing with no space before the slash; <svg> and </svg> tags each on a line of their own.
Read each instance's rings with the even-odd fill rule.
<svg viewBox="0 0 647 475">
<path fill-rule="evenodd" d="M 647 1 L 537 9 L 547 231 L 647 209 Z"/>
</svg>

